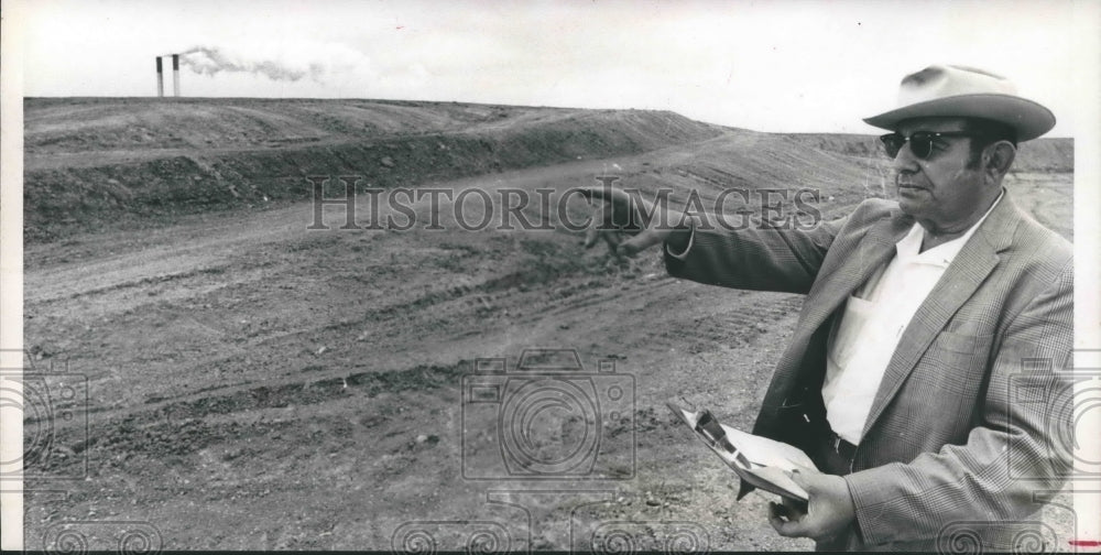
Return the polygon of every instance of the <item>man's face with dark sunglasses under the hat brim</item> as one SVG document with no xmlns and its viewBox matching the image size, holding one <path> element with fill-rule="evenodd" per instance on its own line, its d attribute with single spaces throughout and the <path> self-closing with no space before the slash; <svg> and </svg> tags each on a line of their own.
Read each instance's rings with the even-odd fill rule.
<svg viewBox="0 0 1101 555">
<path fill-rule="evenodd" d="M 917 131 L 963 130 L 959 118 L 922 118 L 903 121 L 896 132 L 911 137 Z M 981 164 L 968 167 L 970 153 L 971 139 L 966 137 L 936 139 L 926 160 L 915 156 L 907 142 L 894 161 L 902 210 L 944 230 L 955 230 L 984 211 L 990 193 L 982 186 Z"/>
</svg>

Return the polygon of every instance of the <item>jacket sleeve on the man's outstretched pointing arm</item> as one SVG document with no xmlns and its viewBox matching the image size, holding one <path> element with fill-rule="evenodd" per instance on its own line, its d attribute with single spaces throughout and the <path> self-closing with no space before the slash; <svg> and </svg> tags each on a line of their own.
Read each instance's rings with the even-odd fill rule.
<svg viewBox="0 0 1101 555">
<path fill-rule="evenodd" d="M 826 251 L 849 218 L 810 230 L 706 228 L 694 220 L 666 242 L 669 275 L 708 285 L 806 294 Z M 678 252 L 687 244 L 687 250 Z"/>
</svg>

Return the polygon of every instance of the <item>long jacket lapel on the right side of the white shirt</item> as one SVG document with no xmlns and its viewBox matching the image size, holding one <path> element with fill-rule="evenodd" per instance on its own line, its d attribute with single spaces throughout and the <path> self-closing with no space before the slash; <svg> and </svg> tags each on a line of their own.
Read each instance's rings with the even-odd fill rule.
<svg viewBox="0 0 1101 555">
<path fill-rule="evenodd" d="M 906 377 L 917 366 L 922 355 L 929 348 L 929 344 L 948 324 L 949 318 L 974 294 L 998 265 L 998 252 L 1010 246 L 1013 230 L 1020 219 L 1021 216 L 1010 199 L 1009 192 L 1003 193 L 998 206 L 948 265 L 903 331 L 902 340 L 898 341 L 894 356 L 887 363 L 883 381 L 880 382 L 875 399 L 872 401 L 871 412 L 864 422 L 863 435 L 866 435 L 875 424 Z"/>
</svg>

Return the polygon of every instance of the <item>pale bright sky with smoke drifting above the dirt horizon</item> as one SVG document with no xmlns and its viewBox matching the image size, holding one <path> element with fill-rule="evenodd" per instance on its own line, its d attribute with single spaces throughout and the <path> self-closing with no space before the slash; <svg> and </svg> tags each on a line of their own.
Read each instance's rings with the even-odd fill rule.
<svg viewBox="0 0 1101 555">
<path fill-rule="evenodd" d="M 760 131 L 872 133 L 898 81 L 981 67 L 1073 137 L 1069 1 L 36 0 L 24 96 L 379 98 L 672 110 Z M 219 63 L 221 65 L 219 65 Z M 218 67 L 240 70 L 215 70 Z M 203 73 L 196 73 L 196 70 Z M 171 94 L 171 62 L 165 61 Z"/>
</svg>

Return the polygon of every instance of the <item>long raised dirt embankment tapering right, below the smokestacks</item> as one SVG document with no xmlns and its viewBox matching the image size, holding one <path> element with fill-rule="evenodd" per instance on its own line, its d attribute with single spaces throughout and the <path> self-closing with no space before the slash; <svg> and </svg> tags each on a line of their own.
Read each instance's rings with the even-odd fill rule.
<svg viewBox="0 0 1101 555">
<path fill-rule="evenodd" d="M 25 101 L 24 237 L 164 225 L 363 187 L 632 154 L 716 137 L 672 112 L 363 100 Z"/>
</svg>

